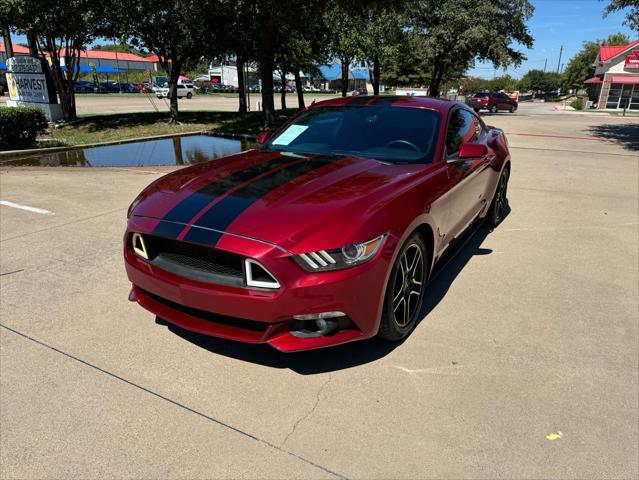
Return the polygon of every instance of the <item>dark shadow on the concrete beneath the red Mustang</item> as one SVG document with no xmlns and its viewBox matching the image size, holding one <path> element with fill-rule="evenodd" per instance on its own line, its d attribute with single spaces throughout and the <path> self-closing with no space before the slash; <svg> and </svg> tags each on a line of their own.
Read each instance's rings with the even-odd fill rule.
<svg viewBox="0 0 639 480">
<path fill-rule="evenodd" d="M 509 212 L 510 207 L 507 206 L 506 215 Z M 481 225 L 472 229 L 442 259 L 441 266 L 433 273 L 427 286 L 426 299 L 420 315 L 421 320 L 418 321 L 415 328 L 420 328 L 421 323 L 428 322 L 427 315 L 444 298 L 457 275 L 472 257 L 492 252 L 490 249 L 481 248 L 481 244 L 489 233 L 490 230 Z M 389 343 L 373 338 L 319 350 L 282 353 L 265 344 L 247 344 L 190 332 L 160 318 L 156 319 L 156 323 L 165 325 L 177 336 L 211 353 L 267 367 L 288 368 L 300 375 L 315 375 L 374 362 L 388 355 L 406 340 Z"/>
</svg>

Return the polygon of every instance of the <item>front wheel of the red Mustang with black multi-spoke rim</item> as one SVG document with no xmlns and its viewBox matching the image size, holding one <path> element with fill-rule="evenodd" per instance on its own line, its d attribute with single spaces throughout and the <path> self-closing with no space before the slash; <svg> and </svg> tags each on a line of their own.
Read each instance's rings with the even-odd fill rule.
<svg viewBox="0 0 639 480">
<path fill-rule="evenodd" d="M 388 279 L 377 332 L 379 338 L 393 342 L 401 340 L 417 324 L 424 303 L 429 255 L 424 240 L 417 232 L 402 246 Z"/>
</svg>

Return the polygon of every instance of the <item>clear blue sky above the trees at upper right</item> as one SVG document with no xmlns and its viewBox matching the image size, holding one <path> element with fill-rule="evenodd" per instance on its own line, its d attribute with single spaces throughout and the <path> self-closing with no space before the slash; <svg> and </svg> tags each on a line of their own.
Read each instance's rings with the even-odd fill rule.
<svg viewBox="0 0 639 480">
<path fill-rule="evenodd" d="M 530 50 L 515 45 L 528 58 L 520 66 L 506 70 L 506 73 L 515 78 L 521 78 L 528 70 L 543 70 L 546 59 L 546 70 L 557 71 L 559 49 L 562 45 L 561 63 L 565 68 L 585 41 L 604 39 L 617 32 L 627 34 L 631 40 L 638 37 L 637 33 L 622 25 L 624 11 L 602 18 L 608 5 L 607 0 L 531 0 L 531 3 L 535 12 L 527 24 L 535 42 Z M 475 68 L 468 71 L 468 75 L 484 78 L 493 78 L 495 74 L 503 75 L 504 71 L 495 72 L 490 63 L 477 63 Z"/>
</svg>

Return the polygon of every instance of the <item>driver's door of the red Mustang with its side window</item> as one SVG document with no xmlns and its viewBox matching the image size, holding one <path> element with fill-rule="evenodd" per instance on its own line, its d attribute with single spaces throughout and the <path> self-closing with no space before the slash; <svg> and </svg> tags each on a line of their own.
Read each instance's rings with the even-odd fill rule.
<svg viewBox="0 0 639 480">
<path fill-rule="evenodd" d="M 477 217 L 486 204 L 490 181 L 490 163 L 495 157 L 486 140 L 488 130 L 474 113 L 456 108 L 448 118 L 445 161 L 449 181 L 449 210 L 444 242 L 458 237 Z M 464 143 L 483 143 L 488 155 L 481 158 L 459 158 Z"/>
</svg>

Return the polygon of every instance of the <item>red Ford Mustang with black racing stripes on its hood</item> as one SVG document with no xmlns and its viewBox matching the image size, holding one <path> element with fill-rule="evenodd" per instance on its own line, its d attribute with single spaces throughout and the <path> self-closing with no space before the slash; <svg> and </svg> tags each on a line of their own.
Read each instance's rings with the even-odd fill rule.
<svg viewBox="0 0 639 480">
<path fill-rule="evenodd" d="M 504 215 L 504 133 L 459 103 L 328 100 L 259 141 L 134 200 L 130 300 L 184 329 L 282 351 L 399 340 L 447 248 Z"/>
</svg>

